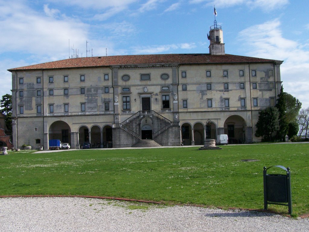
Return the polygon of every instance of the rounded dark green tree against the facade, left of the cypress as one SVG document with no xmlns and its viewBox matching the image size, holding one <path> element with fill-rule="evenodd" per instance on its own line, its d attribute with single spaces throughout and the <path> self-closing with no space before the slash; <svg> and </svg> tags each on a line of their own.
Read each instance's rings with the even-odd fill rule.
<svg viewBox="0 0 309 232">
<path fill-rule="evenodd" d="M 256 123 L 256 137 L 262 137 L 263 141 L 270 141 L 272 133 L 279 129 L 279 112 L 275 107 L 267 107 L 259 112 Z"/>
</svg>

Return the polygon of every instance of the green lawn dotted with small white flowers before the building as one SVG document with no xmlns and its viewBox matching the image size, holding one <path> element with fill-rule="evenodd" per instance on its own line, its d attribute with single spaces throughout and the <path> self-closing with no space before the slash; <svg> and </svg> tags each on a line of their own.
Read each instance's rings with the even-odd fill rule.
<svg viewBox="0 0 309 232">
<path fill-rule="evenodd" d="M 224 208 L 263 209 L 263 167 L 283 165 L 291 169 L 294 213 L 309 213 L 309 144 L 9 154 L 0 156 L 0 195 L 111 196 Z M 269 208 L 287 212 L 287 206 Z"/>
</svg>

